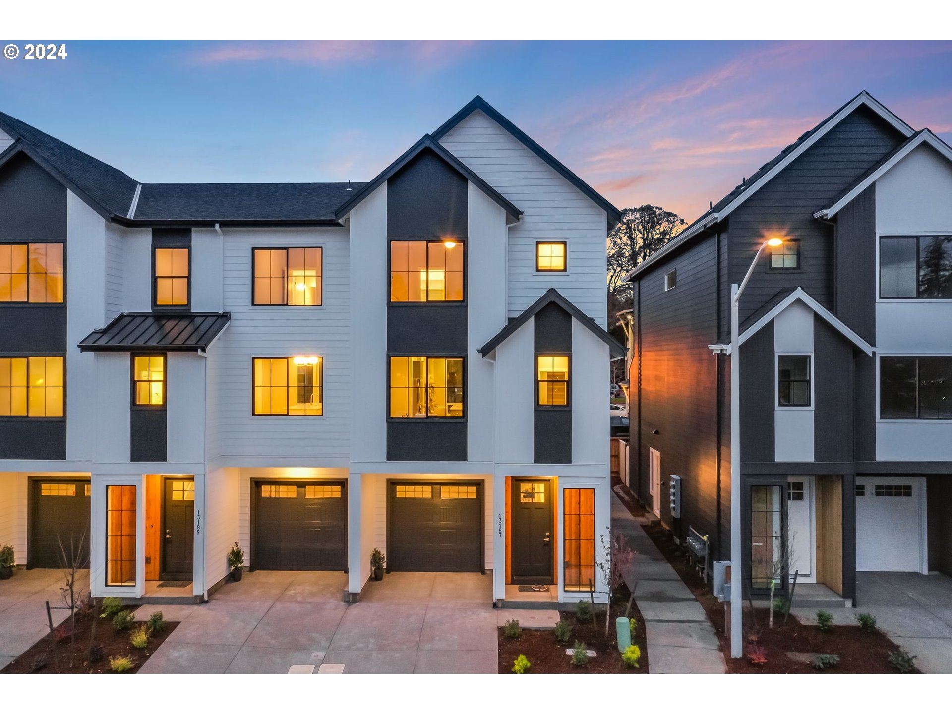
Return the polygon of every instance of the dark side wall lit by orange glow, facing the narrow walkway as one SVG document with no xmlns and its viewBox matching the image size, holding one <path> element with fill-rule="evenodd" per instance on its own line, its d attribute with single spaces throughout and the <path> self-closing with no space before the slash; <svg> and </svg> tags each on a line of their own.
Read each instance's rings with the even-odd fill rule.
<svg viewBox="0 0 952 714">
<path fill-rule="evenodd" d="M 714 545 L 719 540 L 718 367 L 707 346 L 717 338 L 717 263 L 717 239 L 707 238 L 636 286 L 642 372 L 641 389 L 636 391 L 642 419 L 637 425 L 632 422 L 631 440 L 637 452 L 633 486 L 642 501 L 650 506 L 648 449 L 654 447 L 661 452 L 664 522 L 682 538 L 694 526 L 710 535 Z M 678 286 L 665 292 L 664 273 L 671 268 L 678 271 Z M 655 429 L 657 434 L 652 433 Z M 677 521 L 672 521 L 667 506 L 672 473 L 682 477 L 682 517 Z M 721 486 L 722 492 L 729 490 L 728 472 Z"/>
</svg>

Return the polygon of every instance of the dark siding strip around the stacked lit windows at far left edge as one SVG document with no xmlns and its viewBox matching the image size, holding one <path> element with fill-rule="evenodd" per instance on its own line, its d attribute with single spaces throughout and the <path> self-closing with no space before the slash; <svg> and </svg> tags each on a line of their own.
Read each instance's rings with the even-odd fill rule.
<svg viewBox="0 0 952 714">
<path fill-rule="evenodd" d="M 66 188 L 25 155 L 0 169 L 0 244 L 63 243 Z M 64 248 L 64 260 L 69 247 Z M 64 275 L 64 289 L 69 271 Z M 67 351 L 67 303 L 0 307 L 0 355 L 62 356 Z M 69 384 L 69 374 L 64 374 Z M 65 390 L 64 390 L 65 392 Z M 66 414 L 64 397 L 63 413 Z M 0 419 L 0 459 L 65 459 L 66 416 Z"/>
</svg>

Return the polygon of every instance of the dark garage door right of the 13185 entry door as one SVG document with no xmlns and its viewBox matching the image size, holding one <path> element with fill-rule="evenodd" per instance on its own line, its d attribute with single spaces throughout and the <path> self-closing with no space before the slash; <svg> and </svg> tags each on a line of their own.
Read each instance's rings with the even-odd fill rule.
<svg viewBox="0 0 952 714">
<path fill-rule="evenodd" d="M 251 565 L 263 570 L 344 570 L 346 564 L 343 483 L 255 485 Z"/>
</svg>

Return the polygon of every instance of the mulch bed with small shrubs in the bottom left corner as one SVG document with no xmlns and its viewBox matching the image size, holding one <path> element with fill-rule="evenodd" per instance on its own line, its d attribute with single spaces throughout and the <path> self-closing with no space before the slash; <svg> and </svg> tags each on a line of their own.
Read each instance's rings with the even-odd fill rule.
<svg viewBox="0 0 952 714">
<path fill-rule="evenodd" d="M 135 609 L 127 608 L 127 609 Z M 156 608 L 158 609 L 158 608 Z M 166 623 L 166 628 L 159 633 L 149 636 L 149 644 L 143 649 L 137 649 L 129 643 L 132 630 L 140 623 L 135 623 L 128 630 L 116 632 L 109 620 L 99 619 L 96 623 L 96 642 L 103 648 L 103 658 L 99 662 L 89 662 L 89 642 L 93 623 L 91 611 L 76 613 L 76 630 L 70 644 L 67 634 L 54 642 L 50 635 L 46 635 L 26 652 L 8 664 L 0 673 L 3 674 L 96 674 L 108 672 L 109 658 L 129 657 L 132 668 L 125 673 L 132 674 L 146 664 L 151 654 L 159 648 L 178 623 Z M 57 628 L 60 634 L 69 632 L 69 619 L 62 629 Z"/>
</svg>

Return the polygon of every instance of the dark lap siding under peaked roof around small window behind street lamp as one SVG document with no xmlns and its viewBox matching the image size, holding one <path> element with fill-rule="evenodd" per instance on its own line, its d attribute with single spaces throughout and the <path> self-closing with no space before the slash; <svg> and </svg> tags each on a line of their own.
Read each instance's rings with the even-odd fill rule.
<svg viewBox="0 0 952 714">
<path fill-rule="evenodd" d="M 800 286 L 834 308 L 833 227 L 813 217 L 904 137 L 860 108 L 760 188 L 729 217 L 729 282 L 740 283 L 765 230 L 800 240 L 799 271 L 770 271 L 764 256 L 744 290 L 741 322 L 783 288 Z M 729 327 L 728 327 L 729 328 Z"/>
</svg>

